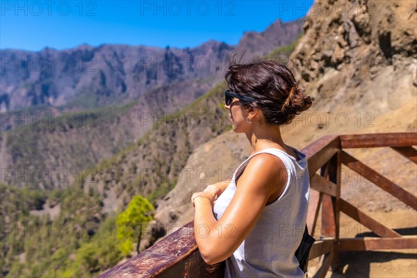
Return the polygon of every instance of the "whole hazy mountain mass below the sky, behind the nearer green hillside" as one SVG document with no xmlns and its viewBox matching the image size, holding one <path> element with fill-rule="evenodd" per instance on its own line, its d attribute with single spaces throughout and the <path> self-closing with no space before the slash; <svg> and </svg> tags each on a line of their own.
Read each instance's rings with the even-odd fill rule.
<svg viewBox="0 0 417 278">
<path fill-rule="evenodd" d="M 288 40 L 295 40 L 301 26 L 300 19 L 278 21 L 252 45 L 271 51 L 284 40 L 267 32 L 280 27 Z M 257 52 L 247 42 L 243 38 L 233 47 L 209 40 L 193 49 L 109 44 L 62 51 L 2 50 L 7 63 L 1 71 L 0 106 L 7 112 L 1 114 L 0 163 L 10 171 L 1 181 L 48 190 L 72 184 L 81 170 L 94 171 L 99 161 L 134 145 L 164 116 L 178 113 L 213 88 L 223 79 L 231 54 L 245 51 L 247 58 L 255 58 Z M 72 66 L 64 67 L 65 61 Z M 24 119 L 20 126 L 19 119 Z M 26 171 L 25 177 L 17 179 L 19 171 Z M 42 177 L 31 179 L 38 172 Z"/>
</svg>

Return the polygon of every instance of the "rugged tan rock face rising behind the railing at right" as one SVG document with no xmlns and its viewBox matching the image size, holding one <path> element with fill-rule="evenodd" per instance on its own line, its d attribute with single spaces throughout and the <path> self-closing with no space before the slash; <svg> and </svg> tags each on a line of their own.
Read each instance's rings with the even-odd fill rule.
<svg viewBox="0 0 417 278">
<path fill-rule="evenodd" d="M 305 147 L 328 134 L 417 131 L 415 26 L 415 1 L 316 1 L 290 57 L 296 79 L 314 98 L 313 106 L 284 128 L 284 136 Z M 415 167 L 392 149 L 348 152 L 416 192 Z M 373 183 L 344 171 L 342 197 L 354 206 L 366 211 L 407 209 Z"/>
</svg>

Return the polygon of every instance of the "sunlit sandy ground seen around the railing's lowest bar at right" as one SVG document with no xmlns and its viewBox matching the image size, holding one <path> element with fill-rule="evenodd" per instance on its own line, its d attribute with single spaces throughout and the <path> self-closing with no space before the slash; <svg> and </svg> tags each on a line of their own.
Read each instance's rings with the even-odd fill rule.
<svg viewBox="0 0 417 278">
<path fill-rule="evenodd" d="M 417 214 L 413 209 L 400 211 L 367 212 L 375 220 L 381 221 L 402 235 L 417 234 Z M 369 229 L 341 213 L 341 237 L 371 236 Z M 368 252 L 343 252 L 340 254 L 338 271 L 327 271 L 326 278 L 341 277 L 417 277 L 417 249 L 378 250 Z M 313 277 L 320 267 L 320 261 L 309 263 L 309 277 Z"/>
</svg>

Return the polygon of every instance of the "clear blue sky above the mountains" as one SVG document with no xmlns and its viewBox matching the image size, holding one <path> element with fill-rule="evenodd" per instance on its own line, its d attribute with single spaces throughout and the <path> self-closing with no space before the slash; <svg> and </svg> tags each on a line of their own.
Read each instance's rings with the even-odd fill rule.
<svg viewBox="0 0 417 278">
<path fill-rule="evenodd" d="M 296 1 L 0 1 L 0 49 L 38 51 L 87 43 L 196 47 L 237 44 L 281 18 L 303 17 L 313 0 Z"/>
</svg>

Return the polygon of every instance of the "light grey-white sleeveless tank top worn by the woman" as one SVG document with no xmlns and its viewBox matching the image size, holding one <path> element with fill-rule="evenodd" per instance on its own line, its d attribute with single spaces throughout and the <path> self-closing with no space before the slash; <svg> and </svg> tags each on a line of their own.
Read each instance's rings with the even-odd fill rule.
<svg viewBox="0 0 417 278">
<path fill-rule="evenodd" d="M 250 234 L 226 260 L 225 277 L 304 277 L 295 250 L 300 245 L 309 207 L 309 171 L 306 156 L 292 148 L 296 160 L 280 149 L 264 149 L 256 154 L 272 154 L 284 163 L 288 181 L 284 192 L 267 204 Z M 236 172 L 246 167 L 253 154 L 236 169 L 229 186 L 218 197 L 213 211 L 219 220 L 236 193 Z"/>
</svg>

